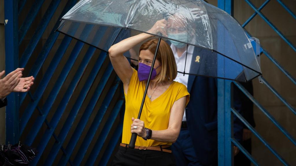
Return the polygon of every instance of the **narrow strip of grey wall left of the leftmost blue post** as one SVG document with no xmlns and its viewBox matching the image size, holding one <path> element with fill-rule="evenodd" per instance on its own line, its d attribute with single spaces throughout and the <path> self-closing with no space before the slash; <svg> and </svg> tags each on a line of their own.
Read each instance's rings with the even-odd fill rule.
<svg viewBox="0 0 296 166">
<path fill-rule="evenodd" d="M 5 69 L 4 0 L 0 0 L 0 72 Z M 5 143 L 5 107 L 0 108 L 0 143 Z"/>
</svg>

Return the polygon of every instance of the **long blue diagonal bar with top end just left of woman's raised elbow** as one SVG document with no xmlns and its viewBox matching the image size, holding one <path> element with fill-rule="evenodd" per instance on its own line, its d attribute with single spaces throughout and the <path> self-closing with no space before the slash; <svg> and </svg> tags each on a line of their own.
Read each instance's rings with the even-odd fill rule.
<svg viewBox="0 0 296 166">
<path fill-rule="evenodd" d="M 94 65 L 93 69 L 91 70 L 91 73 L 89 74 L 89 77 L 88 77 L 85 85 L 81 89 L 81 92 L 80 92 L 80 94 L 79 94 L 79 96 L 78 96 L 78 98 L 77 98 L 71 112 L 69 113 L 69 115 L 67 117 L 67 120 L 65 121 L 65 123 L 64 123 L 64 125 L 62 127 L 62 130 L 59 133 L 58 139 L 61 140 L 61 141 L 58 142 L 58 143 L 56 142 L 53 145 L 53 147 L 52 147 L 52 149 L 51 149 L 51 151 L 50 151 L 50 153 L 49 153 L 49 155 L 48 155 L 48 157 L 47 157 L 47 159 L 46 159 L 46 161 L 44 163 L 45 166 L 52 165 L 52 163 L 54 161 L 54 158 L 57 156 L 57 154 L 59 152 L 59 149 L 61 148 L 61 146 L 62 146 L 62 144 L 63 144 L 63 142 L 64 142 L 64 140 L 65 140 L 65 138 L 66 138 L 66 136 L 68 134 L 68 132 L 70 131 L 70 128 L 73 125 L 73 122 L 74 122 L 74 120 L 76 118 L 76 115 L 77 115 L 78 111 L 80 110 L 80 108 L 81 108 L 81 106 L 83 104 L 83 101 L 85 100 L 86 95 L 88 94 L 89 89 L 91 88 L 91 85 L 93 84 L 93 82 L 94 82 L 94 80 L 95 80 L 95 78 L 96 78 L 96 76 L 97 76 L 97 74 L 98 74 L 98 72 L 99 72 L 105 58 L 106 58 L 106 53 L 102 52 L 100 54 L 99 58 L 97 59 L 96 64 Z M 106 72 L 105 72 L 106 74 L 103 76 L 103 78 L 105 78 L 105 79 L 102 79 L 101 84 L 104 84 L 104 85 L 106 84 L 106 82 L 107 82 L 107 80 L 108 80 L 108 78 L 109 78 L 109 76 L 111 74 L 111 72 L 109 72 L 109 70 L 111 70 L 111 72 L 112 72 L 112 69 L 107 69 L 106 70 Z"/>
</svg>

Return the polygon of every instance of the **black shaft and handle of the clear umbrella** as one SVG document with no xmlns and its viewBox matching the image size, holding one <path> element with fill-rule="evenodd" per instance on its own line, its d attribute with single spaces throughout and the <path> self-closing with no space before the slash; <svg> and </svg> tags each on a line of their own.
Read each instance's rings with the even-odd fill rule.
<svg viewBox="0 0 296 166">
<path fill-rule="evenodd" d="M 153 71 L 153 67 L 154 67 L 154 64 L 155 64 L 156 55 L 157 55 L 157 51 L 158 51 L 158 48 L 159 48 L 159 45 L 160 45 L 160 41 L 161 41 L 161 37 L 158 38 L 157 47 L 156 47 L 156 51 L 155 51 L 155 54 L 154 54 L 154 57 L 153 57 L 153 61 L 152 61 L 152 65 L 151 65 L 151 69 L 150 69 L 150 73 L 149 73 L 149 77 L 148 77 L 148 80 L 147 80 L 147 85 L 146 85 L 146 88 L 145 88 L 143 100 L 142 100 L 140 111 L 139 111 L 139 115 L 138 115 L 138 119 L 140 119 L 140 117 L 141 117 L 141 113 L 142 113 L 142 109 L 143 109 L 143 106 L 144 106 L 145 98 L 146 98 L 146 95 L 147 95 L 148 86 L 149 86 L 150 79 L 151 79 L 151 76 L 152 76 L 152 71 Z M 131 149 L 134 149 L 135 148 L 136 139 L 137 139 L 137 134 L 136 133 L 132 133 L 132 135 L 131 135 L 131 141 L 128 144 L 128 147 L 129 148 L 131 148 Z"/>
</svg>

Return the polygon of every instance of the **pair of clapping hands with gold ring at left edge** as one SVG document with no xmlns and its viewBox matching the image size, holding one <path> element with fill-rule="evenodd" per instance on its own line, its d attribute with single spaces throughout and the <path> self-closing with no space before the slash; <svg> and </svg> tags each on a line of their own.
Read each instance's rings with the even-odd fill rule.
<svg viewBox="0 0 296 166">
<path fill-rule="evenodd" d="M 17 68 L 15 71 L 5 75 L 5 71 L 0 72 L 0 108 L 7 105 L 6 96 L 11 92 L 28 92 L 33 85 L 34 77 L 22 77 L 23 68 Z"/>
</svg>

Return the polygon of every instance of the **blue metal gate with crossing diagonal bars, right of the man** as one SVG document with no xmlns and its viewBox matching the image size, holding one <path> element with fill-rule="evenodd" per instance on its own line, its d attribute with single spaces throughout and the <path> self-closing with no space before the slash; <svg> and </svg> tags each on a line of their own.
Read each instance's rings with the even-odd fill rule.
<svg viewBox="0 0 296 166">
<path fill-rule="evenodd" d="M 281 33 L 275 25 L 273 25 L 267 18 L 260 12 L 261 9 L 268 4 L 270 0 L 266 0 L 259 8 L 250 0 L 245 0 L 247 4 L 255 11 L 252 16 L 247 19 L 247 21 L 242 25 L 245 27 L 257 14 L 294 50 L 295 45 L 293 45 L 286 37 Z M 276 0 L 293 18 L 296 19 L 295 14 L 281 1 Z M 218 0 L 218 7 L 225 10 L 233 16 L 233 0 Z M 250 35 L 250 34 L 249 34 Z M 276 65 L 284 74 L 287 76 L 295 85 L 296 79 L 286 71 L 279 62 L 277 62 L 264 48 L 260 46 L 260 54 L 264 53 L 274 65 Z M 259 55 L 257 55 L 259 56 Z M 263 77 L 259 77 L 259 81 L 263 83 L 271 92 L 276 95 L 295 115 L 295 108 L 287 102 Z M 227 80 L 218 80 L 218 163 L 220 165 L 233 165 L 233 149 L 232 145 L 237 146 L 250 160 L 254 165 L 259 165 L 258 162 L 247 152 L 242 145 L 233 138 L 233 133 L 231 131 L 232 121 L 231 116 L 236 115 L 251 131 L 255 134 L 256 137 L 281 161 L 283 165 L 289 165 L 278 152 L 276 152 L 271 145 L 253 128 L 250 123 L 248 123 L 242 115 L 240 115 L 237 110 L 231 107 L 231 84 L 237 86 L 253 103 L 256 105 L 275 125 L 280 131 L 287 136 L 287 138 L 296 146 L 296 140 L 284 129 L 276 119 L 268 113 L 268 111 L 260 105 L 260 103 L 239 83 L 232 82 Z"/>
</svg>

